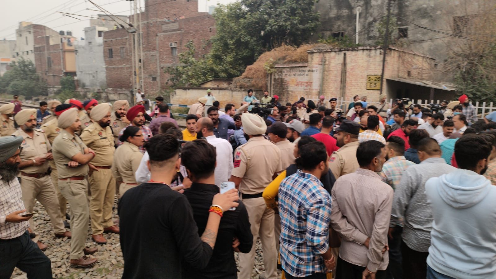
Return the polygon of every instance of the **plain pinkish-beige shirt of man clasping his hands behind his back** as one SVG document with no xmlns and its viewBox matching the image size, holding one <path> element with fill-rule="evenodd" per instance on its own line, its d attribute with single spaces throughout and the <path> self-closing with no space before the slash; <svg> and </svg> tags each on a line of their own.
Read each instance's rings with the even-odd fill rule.
<svg viewBox="0 0 496 279">
<path fill-rule="evenodd" d="M 339 257 L 348 263 L 385 270 L 389 263 L 387 232 L 393 189 L 375 172 L 358 168 L 341 176 L 332 187 L 332 228 L 341 235 Z M 369 248 L 364 244 L 370 238 Z"/>
</svg>

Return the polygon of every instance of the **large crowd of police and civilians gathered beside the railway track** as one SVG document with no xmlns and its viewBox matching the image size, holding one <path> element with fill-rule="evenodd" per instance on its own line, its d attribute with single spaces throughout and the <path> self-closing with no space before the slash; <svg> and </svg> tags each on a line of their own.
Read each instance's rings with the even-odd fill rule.
<svg viewBox="0 0 496 279">
<path fill-rule="evenodd" d="M 0 107 L 0 278 L 52 278 L 35 200 L 71 267 L 98 261 L 88 230 L 97 244 L 120 234 L 123 278 L 249 279 L 257 239 L 267 279 L 496 274 L 496 117 L 478 121 L 466 95 L 340 108 L 249 90 L 222 110 L 207 90 L 181 130 L 162 97 L 150 110 L 138 93 L 132 107 Z"/>
</svg>

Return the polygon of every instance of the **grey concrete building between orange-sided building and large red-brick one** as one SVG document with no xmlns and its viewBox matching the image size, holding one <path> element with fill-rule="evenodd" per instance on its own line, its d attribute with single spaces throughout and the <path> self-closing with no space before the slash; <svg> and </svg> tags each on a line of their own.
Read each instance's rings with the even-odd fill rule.
<svg viewBox="0 0 496 279">
<path fill-rule="evenodd" d="M 84 28 L 83 41 L 76 41 L 76 71 L 79 86 L 91 88 L 106 88 L 107 76 L 103 36 L 98 37 L 98 31 L 107 31 L 105 27 L 91 26 Z"/>
</svg>

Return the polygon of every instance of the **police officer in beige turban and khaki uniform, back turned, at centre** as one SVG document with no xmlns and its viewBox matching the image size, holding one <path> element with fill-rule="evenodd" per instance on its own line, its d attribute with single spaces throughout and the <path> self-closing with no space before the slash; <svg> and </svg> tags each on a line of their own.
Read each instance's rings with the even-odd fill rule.
<svg viewBox="0 0 496 279">
<path fill-rule="evenodd" d="M 255 243 L 258 236 L 262 241 L 265 278 L 277 279 L 277 251 L 274 238 L 274 210 L 267 209 L 262 192 L 277 173 L 281 172 L 281 151 L 270 140 L 263 137 L 267 130 L 265 121 L 256 114 L 241 116 L 248 142 L 235 151 L 234 170 L 230 181 L 242 193 L 243 203 L 253 234 L 253 247 L 248 254 L 240 257 L 240 278 L 251 278 L 255 260 Z"/>
</svg>

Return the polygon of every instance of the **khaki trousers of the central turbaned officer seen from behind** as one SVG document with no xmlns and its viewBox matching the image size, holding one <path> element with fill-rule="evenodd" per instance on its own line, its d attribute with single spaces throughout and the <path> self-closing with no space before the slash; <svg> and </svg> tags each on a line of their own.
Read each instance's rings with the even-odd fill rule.
<svg viewBox="0 0 496 279">
<path fill-rule="evenodd" d="M 277 251 L 274 236 L 274 210 L 267 209 L 262 197 L 255 199 L 243 199 L 248 211 L 248 219 L 253 234 L 253 246 L 247 254 L 240 253 L 240 275 L 239 278 L 251 278 L 251 272 L 255 264 L 256 239 L 260 236 L 263 249 L 263 265 L 265 267 L 265 278 L 277 279 Z"/>
</svg>

